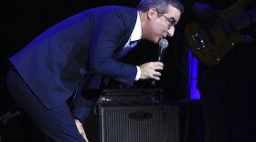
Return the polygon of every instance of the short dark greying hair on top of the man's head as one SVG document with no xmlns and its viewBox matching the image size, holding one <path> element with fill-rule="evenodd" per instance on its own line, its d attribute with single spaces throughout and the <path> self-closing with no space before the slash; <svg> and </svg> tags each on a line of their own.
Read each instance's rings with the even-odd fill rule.
<svg viewBox="0 0 256 142">
<path fill-rule="evenodd" d="M 184 12 L 184 6 L 179 0 L 141 0 L 137 6 L 138 10 L 146 12 L 150 8 L 155 8 L 159 15 L 167 13 L 168 5 L 173 5 L 181 13 Z"/>
</svg>

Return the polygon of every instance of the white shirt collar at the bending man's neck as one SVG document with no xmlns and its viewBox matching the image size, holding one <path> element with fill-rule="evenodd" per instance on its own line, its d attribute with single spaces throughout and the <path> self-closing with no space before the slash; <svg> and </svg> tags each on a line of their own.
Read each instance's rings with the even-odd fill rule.
<svg viewBox="0 0 256 142">
<path fill-rule="evenodd" d="M 137 12 L 136 24 L 133 28 L 133 33 L 130 39 L 131 41 L 136 41 L 136 40 L 140 40 L 141 38 L 142 38 L 142 24 L 141 24 L 139 12 Z"/>
</svg>

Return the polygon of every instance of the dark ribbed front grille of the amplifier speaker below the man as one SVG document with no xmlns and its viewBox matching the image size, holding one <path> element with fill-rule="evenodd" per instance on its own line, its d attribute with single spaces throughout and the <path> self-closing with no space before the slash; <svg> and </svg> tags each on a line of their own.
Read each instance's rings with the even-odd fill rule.
<svg viewBox="0 0 256 142">
<path fill-rule="evenodd" d="M 178 142 L 177 106 L 102 106 L 101 142 Z"/>
</svg>

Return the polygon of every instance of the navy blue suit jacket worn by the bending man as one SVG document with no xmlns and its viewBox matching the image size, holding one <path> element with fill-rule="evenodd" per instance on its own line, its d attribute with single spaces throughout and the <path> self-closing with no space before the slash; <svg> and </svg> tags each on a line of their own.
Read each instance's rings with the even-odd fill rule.
<svg viewBox="0 0 256 142">
<path fill-rule="evenodd" d="M 136 18 L 136 9 L 123 6 L 85 10 L 38 35 L 9 61 L 48 108 L 67 101 L 89 73 L 132 85 L 136 66 L 113 56 L 128 41 Z"/>
</svg>

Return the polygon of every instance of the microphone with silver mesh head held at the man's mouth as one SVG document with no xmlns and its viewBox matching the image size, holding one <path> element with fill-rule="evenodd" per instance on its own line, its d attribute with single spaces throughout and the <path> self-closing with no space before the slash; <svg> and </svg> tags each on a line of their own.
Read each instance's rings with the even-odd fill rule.
<svg viewBox="0 0 256 142">
<path fill-rule="evenodd" d="M 168 41 L 166 39 L 161 39 L 158 42 L 158 51 L 157 51 L 157 56 L 156 56 L 156 61 L 157 62 L 163 62 L 163 58 L 165 56 L 165 49 L 168 46 Z M 152 86 L 155 86 L 155 80 L 151 82 Z"/>
</svg>

